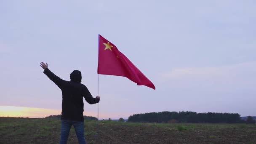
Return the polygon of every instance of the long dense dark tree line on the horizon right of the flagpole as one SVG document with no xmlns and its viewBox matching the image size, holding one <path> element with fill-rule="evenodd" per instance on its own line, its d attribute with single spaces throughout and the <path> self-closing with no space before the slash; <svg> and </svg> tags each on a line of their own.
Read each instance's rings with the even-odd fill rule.
<svg viewBox="0 0 256 144">
<path fill-rule="evenodd" d="M 146 123 L 243 123 L 237 113 L 149 112 L 131 115 L 128 122 Z"/>
</svg>

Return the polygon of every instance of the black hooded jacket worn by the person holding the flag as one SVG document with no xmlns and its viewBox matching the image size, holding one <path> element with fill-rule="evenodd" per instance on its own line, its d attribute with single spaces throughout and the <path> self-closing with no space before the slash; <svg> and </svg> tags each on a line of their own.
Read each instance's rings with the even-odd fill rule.
<svg viewBox="0 0 256 144">
<path fill-rule="evenodd" d="M 61 120 L 84 121 L 83 97 L 89 104 L 96 104 L 99 102 L 99 99 L 93 98 L 87 87 L 81 83 L 81 72 L 74 70 L 70 74 L 70 81 L 62 80 L 54 75 L 48 68 L 45 69 L 43 73 L 62 91 Z"/>
</svg>

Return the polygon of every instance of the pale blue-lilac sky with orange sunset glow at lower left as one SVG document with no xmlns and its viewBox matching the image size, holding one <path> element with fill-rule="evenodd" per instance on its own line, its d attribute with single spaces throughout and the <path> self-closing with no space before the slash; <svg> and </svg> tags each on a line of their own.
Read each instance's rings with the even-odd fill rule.
<svg viewBox="0 0 256 144">
<path fill-rule="evenodd" d="M 61 90 L 41 61 L 64 80 L 80 70 L 97 96 L 98 34 L 156 87 L 99 75 L 99 119 L 162 111 L 256 116 L 255 25 L 255 0 L 2 0 L 0 116 L 22 107 L 30 110 L 15 115 L 60 114 Z M 84 103 L 84 115 L 96 117 L 97 104 Z"/>
</svg>

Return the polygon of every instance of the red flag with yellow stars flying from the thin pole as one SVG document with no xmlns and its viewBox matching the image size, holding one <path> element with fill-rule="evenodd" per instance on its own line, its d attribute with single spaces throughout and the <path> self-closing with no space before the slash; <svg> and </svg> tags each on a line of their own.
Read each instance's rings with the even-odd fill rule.
<svg viewBox="0 0 256 144">
<path fill-rule="evenodd" d="M 155 85 L 117 47 L 99 35 L 98 74 L 127 77 L 137 85 Z"/>
</svg>

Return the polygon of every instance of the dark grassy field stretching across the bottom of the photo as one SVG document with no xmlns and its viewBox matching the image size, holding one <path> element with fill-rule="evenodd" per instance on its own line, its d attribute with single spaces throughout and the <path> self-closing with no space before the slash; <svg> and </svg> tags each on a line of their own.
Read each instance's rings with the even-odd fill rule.
<svg viewBox="0 0 256 144">
<path fill-rule="evenodd" d="M 57 144 L 60 120 L 0 117 L 0 144 Z M 88 144 L 256 144 L 256 125 L 85 121 Z M 75 129 L 68 144 L 78 144 Z"/>
</svg>

